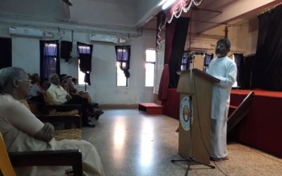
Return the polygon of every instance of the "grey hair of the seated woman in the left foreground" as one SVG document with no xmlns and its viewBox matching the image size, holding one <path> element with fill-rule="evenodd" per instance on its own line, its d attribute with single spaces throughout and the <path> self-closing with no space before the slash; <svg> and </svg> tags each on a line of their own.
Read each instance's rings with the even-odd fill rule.
<svg viewBox="0 0 282 176">
<path fill-rule="evenodd" d="M 0 70 L 0 94 L 11 91 L 13 80 L 24 78 L 25 70 L 23 68 L 8 67 Z"/>
</svg>

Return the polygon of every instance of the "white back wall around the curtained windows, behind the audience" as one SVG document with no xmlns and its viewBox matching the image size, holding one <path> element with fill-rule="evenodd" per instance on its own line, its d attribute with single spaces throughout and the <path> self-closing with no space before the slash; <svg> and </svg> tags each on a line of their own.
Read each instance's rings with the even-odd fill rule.
<svg viewBox="0 0 282 176">
<path fill-rule="evenodd" d="M 12 64 L 24 68 L 27 73 L 39 73 L 39 39 L 10 36 L 8 27 L 0 27 L 0 37 L 12 39 Z M 54 34 L 52 39 L 71 41 L 71 31 L 58 32 L 45 30 Z M 87 86 L 94 101 L 101 104 L 136 104 L 153 101 L 153 88 L 145 87 L 145 49 L 154 48 L 154 32 L 143 32 L 141 37 L 128 39 L 131 46 L 130 77 L 128 87 L 116 87 L 116 53 L 114 44 L 97 44 L 90 42 L 87 32 L 73 32 L 73 41 L 93 44 L 92 85 Z M 78 77 L 76 58 L 66 63 L 61 62 L 61 73 Z M 84 89 L 84 87 L 80 87 Z"/>
</svg>

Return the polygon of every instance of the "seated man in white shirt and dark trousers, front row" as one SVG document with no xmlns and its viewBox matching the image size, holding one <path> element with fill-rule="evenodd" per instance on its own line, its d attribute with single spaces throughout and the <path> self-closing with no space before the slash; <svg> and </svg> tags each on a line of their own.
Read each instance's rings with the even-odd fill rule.
<svg viewBox="0 0 282 176">
<path fill-rule="evenodd" d="M 47 92 L 51 94 L 55 104 L 81 104 L 82 106 L 82 126 L 95 127 L 91 122 L 88 122 L 88 115 L 93 113 L 93 108 L 87 99 L 80 96 L 71 96 L 60 86 L 60 79 L 56 73 L 50 75 L 51 85 Z M 88 115 L 87 115 L 88 114 Z"/>
</svg>

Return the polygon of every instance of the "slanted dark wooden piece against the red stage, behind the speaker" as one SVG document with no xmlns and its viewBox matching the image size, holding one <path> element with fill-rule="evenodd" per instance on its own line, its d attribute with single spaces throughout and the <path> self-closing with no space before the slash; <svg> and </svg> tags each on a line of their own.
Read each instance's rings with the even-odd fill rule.
<svg viewBox="0 0 282 176">
<path fill-rule="evenodd" d="M 252 103 L 252 96 L 254 92 L 247 94 L 245 99 L 239 104 L 239 106 L 230 106 L 229 111 L 233 111 L 228 117 L 227 121 L 227 132 L 230 132 L 235 125 L 237 125 L 250 110 L 250 104 Z"/>
</svg>

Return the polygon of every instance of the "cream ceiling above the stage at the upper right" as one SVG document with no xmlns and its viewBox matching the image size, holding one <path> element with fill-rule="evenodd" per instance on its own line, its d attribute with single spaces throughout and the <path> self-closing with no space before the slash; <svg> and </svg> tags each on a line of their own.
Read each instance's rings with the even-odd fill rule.
<svg viewBox="0 0 282 176">
<path fill-rule="evenodd" d="M 192 33 L 202 33 L 219 25 L 231 25 L 255 18 L 257 14 L 281 2 L 281 0 L 203 0 L 200 6 L 192 5 L 190 11 L 183 12 L 181 17 L 191 18 Z M 143 27 L 155 30 L 157 17 L 154 16 Z"/>
</svg>

